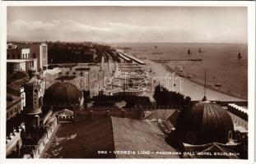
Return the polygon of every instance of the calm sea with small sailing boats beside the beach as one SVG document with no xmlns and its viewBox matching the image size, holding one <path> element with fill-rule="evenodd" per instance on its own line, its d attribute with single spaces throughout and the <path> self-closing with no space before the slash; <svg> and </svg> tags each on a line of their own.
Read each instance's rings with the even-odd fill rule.
<svg viewBox="0 0 256 164">
<path fill-rule="evenodd" d="M 237 98 L 248 98 L 248 45 L 228 43 L 112 43 L 140 59 L 179 68 L 189 80 Z M 199 52 L 199 48 L 202 52 Z M 190 50 L 191 54 L 188 54 Z M 241 54 L 240 60 L 238 54 Z M 200 59 L 191 61 L 191 59 Z M 201 61 L 202 60 L 202 61 Z M 177 70 L 176 70 L 177 71 Z"/>
</svg>

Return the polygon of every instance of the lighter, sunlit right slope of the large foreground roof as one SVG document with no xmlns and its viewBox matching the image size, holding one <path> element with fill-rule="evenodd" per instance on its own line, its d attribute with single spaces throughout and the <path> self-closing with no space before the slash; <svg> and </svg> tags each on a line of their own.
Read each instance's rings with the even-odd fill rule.
<svg viewBox="0 0 256 164">
<path fill-rule="evenodd" d="M 135 151 L 135 154 L 116 154 L 117 158 L 179 158 L 175 148 L 165 143 L 165 135 L 156 123 L 133 119 L 112 117 L 114 148 L 116 151 Z M 138 154 L 137 151 L 150 151 L 150 154 Z"/>
</svg>

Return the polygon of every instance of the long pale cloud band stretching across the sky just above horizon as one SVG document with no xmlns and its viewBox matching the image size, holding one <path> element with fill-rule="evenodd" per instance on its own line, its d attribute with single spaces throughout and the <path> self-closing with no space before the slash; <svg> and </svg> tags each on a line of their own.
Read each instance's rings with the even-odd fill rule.
<svg viewBox="0 0 256 164">
<path fill-rule="evenodd" d="M 216 30 L 196 25 L 134 25 L 119 22 L 98 22 L 91 25 L 69 19 L 52 21 L 16 20 L 7 24 L 9 41 L 93 41 L 93 42 L 246 42 L 224 25 Z"/>
</svg>

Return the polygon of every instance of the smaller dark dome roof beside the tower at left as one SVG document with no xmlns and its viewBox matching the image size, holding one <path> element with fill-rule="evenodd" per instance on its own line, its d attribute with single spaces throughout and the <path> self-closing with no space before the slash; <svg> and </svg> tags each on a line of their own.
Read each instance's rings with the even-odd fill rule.
<svg viewBox="0 0 256 164">
<path fill-rule="evenodd" d="M 57 82 L 44 93 L 44 107 L 72 107 L 79 104 L 81 92 L 76 85 Z"/>
</svg>

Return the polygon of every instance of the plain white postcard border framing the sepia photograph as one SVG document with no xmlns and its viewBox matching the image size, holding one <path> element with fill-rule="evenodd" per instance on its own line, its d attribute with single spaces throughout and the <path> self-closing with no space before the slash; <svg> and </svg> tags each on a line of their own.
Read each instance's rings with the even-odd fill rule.
<svg viewBox="0 0 256 164">
<path fill-rule="evenodd" d="M 223 160 L 223 159 L 6 159 L 6 49 L 7 49 L 7 7 L 8 6 L 192 6 L 192 7 L 248 7 L 248 101 L 249 101 L 249 159 L 248 160 Z M 254 162 L 254 118 L 255 118 L 255 2 L 248 1 L 5 1 L 1 7 L 1 65 L 0 65 L 0 158 L 3 163 L 253 163 Z"/>
</svg>

